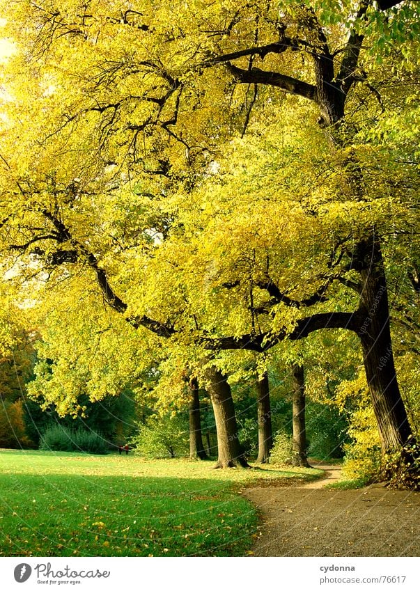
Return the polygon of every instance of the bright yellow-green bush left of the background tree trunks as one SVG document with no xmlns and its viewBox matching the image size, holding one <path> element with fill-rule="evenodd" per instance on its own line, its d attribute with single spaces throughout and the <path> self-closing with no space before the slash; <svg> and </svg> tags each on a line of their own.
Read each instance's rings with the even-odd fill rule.
<svg viewBox="0 0 420 591">
<path fill-rule="evenodd" d="M 179 417 L 152 416 L 139 424 L 130 444 L 134 452 L 148 459 L 189 455 L 188 424 Z"/>
</svg>

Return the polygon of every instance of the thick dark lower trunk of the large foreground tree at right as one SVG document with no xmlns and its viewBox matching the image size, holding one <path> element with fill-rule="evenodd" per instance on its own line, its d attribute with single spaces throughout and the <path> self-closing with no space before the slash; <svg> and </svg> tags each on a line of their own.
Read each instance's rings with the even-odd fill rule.
<svg viewBox="0 0 420 591">
<path fill-rule="evenodd" d="M 416 479 L 411 451 L 414 438 L 400 395 L 389 327 L 387 281 L 380 244 L 366 239 L 358 247 L 355 265 L 359 264 L 361 296 L 359 338 L 364 354 L 366 379 L 378 423 L 382 455 L 398 455 L 396 464 L 385 466 L 385 478 L 412 487 Z M 395 462 L 395 457 L 394 457 Z M 405 466 L 405 467 L 404 467 Z M 411 468 L 410 468 L 411 466 Z M 397 482 L 399 480 L 399 482 Z M 419 483 L 417 482 L 417 487 Z"/>
</svg>

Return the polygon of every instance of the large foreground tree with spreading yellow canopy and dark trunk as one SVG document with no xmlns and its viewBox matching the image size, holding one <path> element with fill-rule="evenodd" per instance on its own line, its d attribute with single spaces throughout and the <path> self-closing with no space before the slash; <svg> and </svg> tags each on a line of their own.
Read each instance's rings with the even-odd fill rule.
<svg viewBox="0 0 420 591">
<path fill-rule="evenodd" d="M 417 326 L 420 8 L 378 8 L 10 3 L 3 263 L 61 294 L 63 409 L 72 358 L 95 398 L 147 355 L 227 372 L 348 329 L 384 451 L 412 441 L 389 301 Z"/>
</svg>

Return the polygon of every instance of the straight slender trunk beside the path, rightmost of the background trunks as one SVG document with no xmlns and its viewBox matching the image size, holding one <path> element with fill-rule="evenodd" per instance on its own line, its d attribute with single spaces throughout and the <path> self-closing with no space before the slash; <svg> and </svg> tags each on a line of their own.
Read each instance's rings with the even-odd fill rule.
<svg viewBox="0 0 420 591">
<path fill-rule="evenodd" d="M 306 457 L 305 382 L 303 365 L 293 365 L 293 465 L 309 468 Z"/>
</svg>

